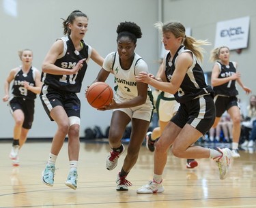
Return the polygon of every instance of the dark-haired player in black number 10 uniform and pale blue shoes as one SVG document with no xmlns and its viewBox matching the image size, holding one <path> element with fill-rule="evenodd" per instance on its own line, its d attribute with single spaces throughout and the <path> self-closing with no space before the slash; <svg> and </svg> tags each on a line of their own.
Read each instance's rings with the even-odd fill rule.
<svg viewBox="0 0 256 208">
<path fill-rule="evenodd" d="M 63 21 L 64 37 L 57 39 L 44 58 L 42 65 L 42 92 L 40 99 L 46 113 L 57 123 L 48 163 L 42 173 L 42 181 L 53 186 L 55 162 L 66 135 L 68 135 L 68 156 L 70 173 L 66 186 L 77 188 L 77 166 L 79 160 L 79 128 L 81 102 L 80 92 L 89 58 L 102 67 L 104 58 L 85 44 L 88 18 L 75 10 Z"/>
</svg>

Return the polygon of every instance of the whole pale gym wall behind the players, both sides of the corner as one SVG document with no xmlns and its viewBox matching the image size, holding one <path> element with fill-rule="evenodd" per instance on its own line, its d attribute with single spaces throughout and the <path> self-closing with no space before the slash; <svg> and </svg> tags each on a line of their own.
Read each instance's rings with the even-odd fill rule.
<svg viewBox="0 0 256 208">
<path fill-rule="evenodd" d="M 17 51 L 31 48 L 34 54 L 33 65 L 40 69 L 42 60 L 48 49 L 57 37 L 62 35 L 62 20 L 67 18 L 73 10 L 81 10 L 89 16 L 89 31 L 85 41 L 96 48 L 102 56 L 116 50 L 115 29 L 119 22 L 134 21 L 141 26 L 143 37 L 138 40 L 137 53 L 143 56 L 149 65 L 150 72 L 156 73 L 158 69 L 158 31 L 153 25 L 158 21 L 158 1 L 163 5 L 163 21 L 179 20 L 185 27 L 190 27 L 192 35 L 197 39 L 208 39 L 214 44 L 216 22 L 250 16 L 250 37 L 248 48 L 242 54 L 231 52 L 231 60 L 238 62 L 238 70 L 242 73 L 242 81 L 253 89 L 256 94 L 256 77 L 254 48 L 256 42 L 256 1 L 255 0 L 0 0 L 0 57 L 1 76 L 3 84 L 10 69 L 20 65 Z M 5 2 L 13 3 L 17 16 L 10 16 L 3 8 Z M 203 62 L 205 72 L 212 70 L 212 63 L 208 61 L 210 50 L 214 46 L 205 46 L 207 53 Z M 40 69 L 41 70 L 41 69 Z M 90 84 L 99 67 L 92 61 L 89 63 L 83 88 L 79 97 L 82 101 L 81 136 L 83 130 L 89 126 L 98 125 L 104 130 L 109 125 L 111 111 L 98 112 L 91 108 L 84 99 L 84 90 Z M 113 77 L 108 80 L 112 82 Z M 241 90 L 240 99 L 244 107 L 248 104 L 248 96 Z M 3 97 L 3 86 L 0 91 Z M 29 137 L 53 137 L 56 125 L 48 120 L 40 99 L 35 103 L 35 120 Z M 0 138 L 11 138 L 14 125 L 12 116 L 6 103 L 0 102 Z"/>
</svg>

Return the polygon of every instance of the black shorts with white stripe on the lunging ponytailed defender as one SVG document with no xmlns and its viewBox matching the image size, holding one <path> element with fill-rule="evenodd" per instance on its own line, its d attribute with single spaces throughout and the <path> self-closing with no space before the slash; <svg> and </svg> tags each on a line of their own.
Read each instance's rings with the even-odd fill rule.
<svg viewBox="0 0 256 208">
<path fill-rule="evenodd" d="M 180 108 L 171 118 L 171 122 L 180 128 L 190 124 L 205 135 L 214 124 L 215 116 L 214 100 L 210 94 L 207 94 L 192 101 L 180 103 Z"/>
</svg>

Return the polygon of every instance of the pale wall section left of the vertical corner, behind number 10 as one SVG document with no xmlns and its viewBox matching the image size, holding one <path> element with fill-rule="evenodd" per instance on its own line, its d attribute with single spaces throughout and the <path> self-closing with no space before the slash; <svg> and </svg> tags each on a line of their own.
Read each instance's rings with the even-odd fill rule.
<svg viewBox="0 0 256 208">
<path fill-rule="evenodd" d="M 17 16 L 10 16 L 4 8 L 6 2 Z M 16 10 L 15 10 L 16 3 Z M 115 51 L 116 28 L 119 22 L 136 22 L 142 30 L 143 37 L 137 41 L 136 52 L 141 55 L 150 67 L 156 71 L 158 64 L 158 32 L 153 24 L 157 21 L 157 1 L 155 0 L 1 0 L 0 1 L 0 57 L 2 84 L 0 91 L 3 97 L 3 82 L 10 69 L 20 65 L 17 51 L 30 48 L 33 50 L 33 65 L 41 70 L 42 60 L 57 37 L 63 33 L 61 18 L 67 18 L 73 10 L 81 10 L 89 17 L 89 31 L 85 35 L 87 44 L 96 48 L 102 56 Z M 98 125 L 104 131 L 110 123 L 111 111 L 97 111 L 87 104 L 84 91 L 87 85 L 96 78 L 100 67 L 91 60 L 79 97 L 82 101 L 81 136 L 86 127 Z M 113 77 L 109 77 L 109 84 L 113 86 Z M 13 118 L 6 106 L 0 102 L 0 138 L 12 138 L 14 126 Z M 56 131 L 55 122 L 51 122 L 42 107 L 38 97 L 35 102 L 35 118 L 29 137 L 53 137 Z"/>
</svg>

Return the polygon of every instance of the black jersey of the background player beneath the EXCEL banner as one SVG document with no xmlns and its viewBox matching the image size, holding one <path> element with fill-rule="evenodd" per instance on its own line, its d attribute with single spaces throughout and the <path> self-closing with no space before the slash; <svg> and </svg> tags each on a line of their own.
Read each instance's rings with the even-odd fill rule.
<svg viewBox="0 0 256 208">
<path fill-rule="evenodd" d="M 234 73 L 236 73 L 236 67 L 232 62 L 229 62 L 229 65 L 223 65 L 220 62 L 216 63 L 220 69 L 220 73 L 218 75 L 218 78 L 225 78 L 230 77 Z M 230 80 L 229 82 L 226 82 L 224 84 L 221 84 L 219 86 L 214 86 L 214 92 L 215 94 L 222 94 L 228 97 L 233 97 L 238 95 L 238 90 L 236 89 L 236 80 Z"/>
</svg>

